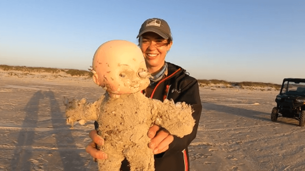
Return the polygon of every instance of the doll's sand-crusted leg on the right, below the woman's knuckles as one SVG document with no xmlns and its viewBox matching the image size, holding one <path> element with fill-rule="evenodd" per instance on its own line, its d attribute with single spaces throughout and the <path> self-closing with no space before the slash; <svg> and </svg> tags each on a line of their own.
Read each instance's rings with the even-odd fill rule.
<svg viewBox="0 0 305 171">
<path fill-rule="evenodd" d="M 131 171 L 154 171 L 155 160 L 147 145 L 133 147 L 127 153 Z"/>
</svg>

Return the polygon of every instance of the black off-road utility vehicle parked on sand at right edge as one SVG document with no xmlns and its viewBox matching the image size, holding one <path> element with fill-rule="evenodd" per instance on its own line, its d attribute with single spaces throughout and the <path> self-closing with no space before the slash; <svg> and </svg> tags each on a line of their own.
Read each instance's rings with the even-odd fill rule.
<svg viewBox="0 0 305 171">
<path fill-rule="evenodd" d="M 277 105 L 272 109 L 271 121 L 275 122 L 282 116 L 297 119 L 302 127 L 305 125 L 305 79 L 285 78 L 275 102 Z"/>
</svg>

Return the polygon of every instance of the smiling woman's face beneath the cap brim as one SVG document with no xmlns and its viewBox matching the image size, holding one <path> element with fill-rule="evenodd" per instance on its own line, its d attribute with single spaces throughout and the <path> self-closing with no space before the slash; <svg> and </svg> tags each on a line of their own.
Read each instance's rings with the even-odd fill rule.
<svg viewBox="0 0 305 171">
<path fill-rule="evenodd" d="M 146 32 L 140 36 L 140 48 L 144 54 L 147 68 L 154 68 L 156 71 L 161 69 L 171 45 L 172 42 L 168 44 L 167 39 L 154 32 Z"/>
</svg>

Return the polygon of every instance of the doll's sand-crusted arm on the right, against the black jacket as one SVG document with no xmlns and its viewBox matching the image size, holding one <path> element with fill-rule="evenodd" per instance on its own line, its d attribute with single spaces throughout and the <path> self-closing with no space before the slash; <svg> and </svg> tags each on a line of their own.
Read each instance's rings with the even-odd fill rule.
<svg viewBox="0 0 305 171">
<path fill-rule="evenodd" d="M 192 117 L 192 107 L 185 102 L 177 102 L 165 99 L 155 102 L 152 112 L 155 113 L 155 124 L 159 125 L 172 135 L 182 138 L 192 132 L 195 120 Z"/>
</svg>

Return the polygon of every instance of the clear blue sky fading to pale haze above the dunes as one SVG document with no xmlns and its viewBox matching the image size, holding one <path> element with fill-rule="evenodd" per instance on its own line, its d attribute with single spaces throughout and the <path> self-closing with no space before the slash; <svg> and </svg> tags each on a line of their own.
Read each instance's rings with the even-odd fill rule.
<svg viewBox="0 0 305 171">
<path fill-rule="evenodd" d="M 87 70 L 102 43 L 170 25 L 166 60 L 197 79 L 305 78 L 305 1 L 0 1 L 0 64 Z"/>
</svg>

